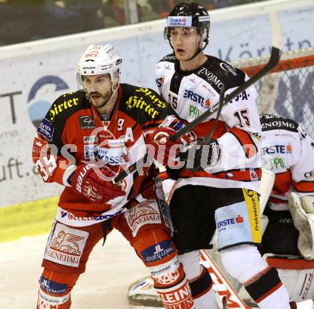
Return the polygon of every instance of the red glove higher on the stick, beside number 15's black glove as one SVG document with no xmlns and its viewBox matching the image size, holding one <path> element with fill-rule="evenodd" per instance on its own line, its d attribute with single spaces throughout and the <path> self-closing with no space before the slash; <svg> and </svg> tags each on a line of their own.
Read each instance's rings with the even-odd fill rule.
<svg viewBox="0 0 314 309">
<path fill-rule="evenodd" d="M 172 128 L 157 128 L 153 133 L 146 136 L 146 144 L 153 146 L 153 158 L 167 166 L 170 161 L 174 161 L 180 151 L 181 141 L 170 141 L 169 136 L 176 133 Z M 173 147 L 174 146 L 174 147 Z M 151 151 L 148 148 L 148 155 Z"/>
</svg>

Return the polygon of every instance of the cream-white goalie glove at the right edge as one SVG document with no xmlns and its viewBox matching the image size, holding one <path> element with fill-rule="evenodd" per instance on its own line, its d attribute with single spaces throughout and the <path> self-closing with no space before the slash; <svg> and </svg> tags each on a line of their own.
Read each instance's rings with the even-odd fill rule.
<svg viewBox="0 0 314 309">
<path fill-rule="evenodd" d="M 295 228 L 300 232 L 298 249 L 307 260 L 314 259 L 314 196 L 303 196 L 290 193 L 289 211 L 293 218 Z"/>
</svg>

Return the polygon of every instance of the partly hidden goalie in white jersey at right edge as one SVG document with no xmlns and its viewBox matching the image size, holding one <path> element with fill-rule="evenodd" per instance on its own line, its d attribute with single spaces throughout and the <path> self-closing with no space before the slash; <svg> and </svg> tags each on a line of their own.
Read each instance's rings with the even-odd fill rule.
<svg viewBox="0 0 314 309">
<path fill-rule="evenodd" d="M 314 142 L 293 120 L 260 116 L 263 166 L 275 173 L 260 252 L 296 301 L 314 299 Z"/>
</svg>

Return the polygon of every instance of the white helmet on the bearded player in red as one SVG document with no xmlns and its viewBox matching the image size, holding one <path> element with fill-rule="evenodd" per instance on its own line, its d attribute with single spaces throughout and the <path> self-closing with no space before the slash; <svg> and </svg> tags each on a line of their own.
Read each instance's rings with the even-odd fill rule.
<svg viewBox="0 0 314 309">
<path fill-rule="evenodd" d="M 111 45 L 90 45 L 78 62 L 78 78 L 84 75 L 110 74 L 112 83 L 119 81 L 122 59 Z"/>
</svg>

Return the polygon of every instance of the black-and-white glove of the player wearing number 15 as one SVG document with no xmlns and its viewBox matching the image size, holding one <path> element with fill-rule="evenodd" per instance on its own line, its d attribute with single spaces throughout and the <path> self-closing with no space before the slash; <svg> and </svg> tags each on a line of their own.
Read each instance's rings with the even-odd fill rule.
<svg viewBox="0 0 314 309">
<path fill-rule="evenodd" d="M 220 157 L 221 149 L 214 138 L 208 143 L 198 139 L 180 153 L 180 160 L 186 162 L 184 168 L 192 171 L 204 171 L 205 168 L 216 166 Z"/>
</svg>

